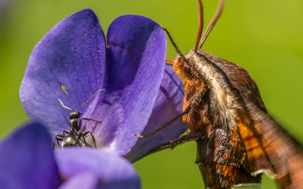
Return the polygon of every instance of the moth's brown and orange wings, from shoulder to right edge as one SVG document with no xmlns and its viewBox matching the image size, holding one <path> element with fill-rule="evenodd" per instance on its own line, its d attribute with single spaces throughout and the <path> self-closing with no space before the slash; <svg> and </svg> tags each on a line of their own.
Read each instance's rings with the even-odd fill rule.
<svg viewBox="0 0 303 189">
<path fill-rule="evenodd" d="M 230 116 L 239 128 L 238 134 L 245 145 L 253 174 L 266 172 L 277 179 L 281 188 L 302 187 L 303 147 L 266 114 L 258 88 L 247 71 L 205 51 L 201 53 L 224 71 L 245 101 L 243 106 L 242 99 L 237 94 L 232 95 L 236 103 L 229 108 L 232 109 Z M 237 133 L 231 139 L 235 140 L 236 136 Z M 238 143 L 238 147 L 241 146 L 241 142 Z M 241 153 L 241 149 L 238 152 Z"/>
</svg>

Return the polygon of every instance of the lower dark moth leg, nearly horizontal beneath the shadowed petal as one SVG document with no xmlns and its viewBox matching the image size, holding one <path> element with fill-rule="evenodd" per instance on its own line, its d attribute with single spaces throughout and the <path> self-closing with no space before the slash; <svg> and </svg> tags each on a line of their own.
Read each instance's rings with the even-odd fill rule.
<svg viewBox="0 0 303 189">
<path fill-rule="evenodd" d="M 190 133 L 190 134 L 187 134 L 187 135 L 183 135 L 183 136 L 179 137 L 178 139 L 175 139 L 173 141 L 164 143 L 164 144 L 152 149 L 145 156 L 147 156 L 149 154 L 152 154 L 154 152 L 163 150 L 163 149 L 167 149 L 167 148 L 173 149 L 177 145 L 180 145 L 180 144 L 185 143 L 185 142 L 195 141 L 197 139 L 204 139 L 205 138 L 204 136 L 205 135 L 203 133 L 195 133 L 195 134 Z"/>
</svg>

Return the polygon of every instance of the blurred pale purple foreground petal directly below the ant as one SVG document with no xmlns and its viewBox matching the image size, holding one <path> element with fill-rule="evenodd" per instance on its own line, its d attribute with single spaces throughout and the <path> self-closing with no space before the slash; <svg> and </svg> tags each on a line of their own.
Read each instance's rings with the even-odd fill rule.
<svg viewBox="0 0 303 189">
<path fill-rule="evenodd" d="M 61 174 L 70 178 L 73 185 L 79 174 L 88 178 L 88 185 L 104 189 L 140 189 L 140 178 L 130 162 L 122 157 L 90 148 L 55 150 Z M 94 179 L 95 176 L 95 179 Z M 85 180 L 82 179 L 82 182 Z M 76 188 L 77 189 L 77 188 Z"/>
</svg>

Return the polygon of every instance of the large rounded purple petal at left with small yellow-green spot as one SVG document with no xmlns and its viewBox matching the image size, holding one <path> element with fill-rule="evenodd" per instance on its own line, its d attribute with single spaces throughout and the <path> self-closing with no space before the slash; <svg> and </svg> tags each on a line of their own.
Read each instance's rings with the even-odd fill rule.
<svg viewBox="0 0 303 189">
<path fill-rule="evenodd" d="M 56 24 L 34 48 L 21 84 L 20 99 L 30 119 L 47 126 L 52 136 L 68 129 L 70 110 L 57 98 L 78 108 L 101 89 L 104 62 L 105 37 L 92 10 Z M 86 109 L 89 105 L 81 111 Z"/>
</svg>

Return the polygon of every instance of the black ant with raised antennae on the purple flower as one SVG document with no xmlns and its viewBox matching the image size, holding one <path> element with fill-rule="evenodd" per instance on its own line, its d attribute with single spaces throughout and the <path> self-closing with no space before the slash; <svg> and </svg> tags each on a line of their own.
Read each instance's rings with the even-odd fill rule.
<svg viewBox="0 0 303 189">
<path fill-rule="evenodd" d="M 69 114 L 70 132 L 68 132 L 67 130 L 64 130 L 63 131 L 63 135 L 56 134 L 55 138 L 54 138 L 54 140 L 52 142 L 52 147 L 53 148 L 54 148 L 54 142 L 55 141 L 57 142 L 59 148 L 61 148 L 60 144 L 59 144 L 59 141 L 62 142 L 61 143 L 62 148 L 68 147 L 68 146 L 83 146 L 83 144 L 80 142 L 81 138 L 83 139 L 84 144 L 87 147 L 88 145 L 87 145 L 84 137 L 86 137 L 88 134 L 91 134 L 92 140 L 93 140 L 93 142 L 95 144 L 95 148 L 97 149 L 95 138 L 94 138 L 92 132 L 87 131 L 87 132 L 82 133 L 82 132 L 79 132 L 79 131 L 80 131 L 81 126 L 82 126 L 82 119 L 87 120 L 87 121 L 96 121 L 96 122 L 101 121 L 101 120 L 94 120 L 94 119 L 90 119 L 90 118 L 80 118 L 81 113 L 78 110 L 82 106 L 84 106 L 86 103 L 88 103 L 96 94 L 98 94 L 101 91 L 104 91 L 104 89 L 101 89 L 101 90 L 97 91 L 95 94 L 93 94 L 92 97 L 90 97 L 90 99 L 88 99 L 86 102 L 84 102 L 76 111 L 72 110 L 69 107 L 66 107 L 63 104 L 63 102 L 59 98 L 57 98 L 57 100 L 61 103 L 62 107 L 66 108 L 66 109 L 69 109 L 72 112 Z M 78 124 L 78 119 L 79 118 L 80 118 L 80 120 L 79 120 L 79 124 Z M 65 134 L 68 134 L 68 135 L 65 136 Z"/>
</svg>

